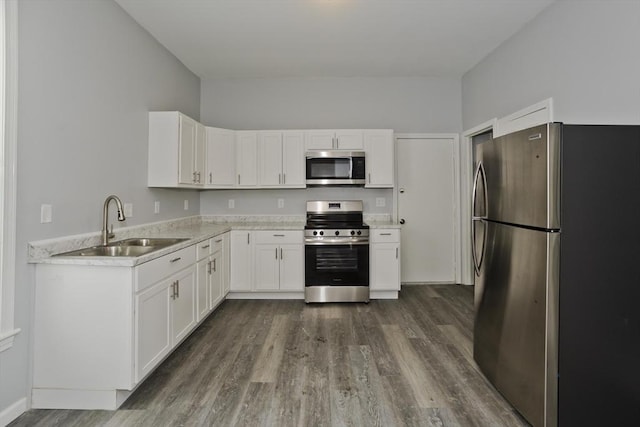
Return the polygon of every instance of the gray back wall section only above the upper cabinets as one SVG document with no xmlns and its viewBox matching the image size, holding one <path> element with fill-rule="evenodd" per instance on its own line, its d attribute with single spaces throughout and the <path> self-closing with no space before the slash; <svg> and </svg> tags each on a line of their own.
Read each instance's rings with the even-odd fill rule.
<svg viewBox="0 0 640 427">
<path fill-rule="evenodd" d="M 203 80 L 201 119 L 229 129 L 459 132 L 456 78 Z"/>
</svg>

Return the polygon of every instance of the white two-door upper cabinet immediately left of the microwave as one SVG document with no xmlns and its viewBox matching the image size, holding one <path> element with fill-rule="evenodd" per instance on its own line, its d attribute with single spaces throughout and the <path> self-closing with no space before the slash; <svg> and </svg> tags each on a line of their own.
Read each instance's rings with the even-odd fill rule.
<svg viewBox="0 0 640 427">
<path fill-rule="evenodd" d="M 259 132 L 258 158 L 260 186 L 305 187 L 303 132 Z"/>
</svg>

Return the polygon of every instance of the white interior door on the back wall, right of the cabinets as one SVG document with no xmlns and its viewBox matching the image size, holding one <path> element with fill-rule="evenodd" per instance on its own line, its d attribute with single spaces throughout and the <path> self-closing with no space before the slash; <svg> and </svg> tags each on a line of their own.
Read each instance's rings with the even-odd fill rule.
<svg viewBox="0 0 640 427">
<path fill-rule="evenodd" d="M 402 282 L 455 282 L 455 143 L 453 137 L 397 138 Z"/>
</svg>

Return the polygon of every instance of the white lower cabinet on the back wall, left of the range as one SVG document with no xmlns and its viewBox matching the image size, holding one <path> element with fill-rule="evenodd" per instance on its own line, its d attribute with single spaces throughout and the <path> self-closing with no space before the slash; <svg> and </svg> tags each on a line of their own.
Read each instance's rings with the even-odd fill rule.
<svg viewBox="0 0 640 427">
<path fill-rule="evenodd" d="M 304 291 L 302 231 L 232 231 L 231 236 L 232 292 Z"/>
</svg>

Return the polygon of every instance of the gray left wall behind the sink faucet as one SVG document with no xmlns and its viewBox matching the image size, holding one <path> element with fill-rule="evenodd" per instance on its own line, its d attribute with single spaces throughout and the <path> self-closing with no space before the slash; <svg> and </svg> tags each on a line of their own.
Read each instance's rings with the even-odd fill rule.
<svg viewBox="0 0 640 427">
<path fill-rule="evenodd" d="M 134 204 L 125 225 L 200 211 L 195 191 L 146 188 L 147 112 L 198 119 L 199 78 L 112 1 L 20 1 L 18 14 L 15 313 L 22 332 L 0 354 L 0 412 L 26 396 L 30 381 L 27 242 L 98 232 L 111 193 Z M 42 203 L 53 205 L 50 224 L 40 224 Z"/>
</svg>

